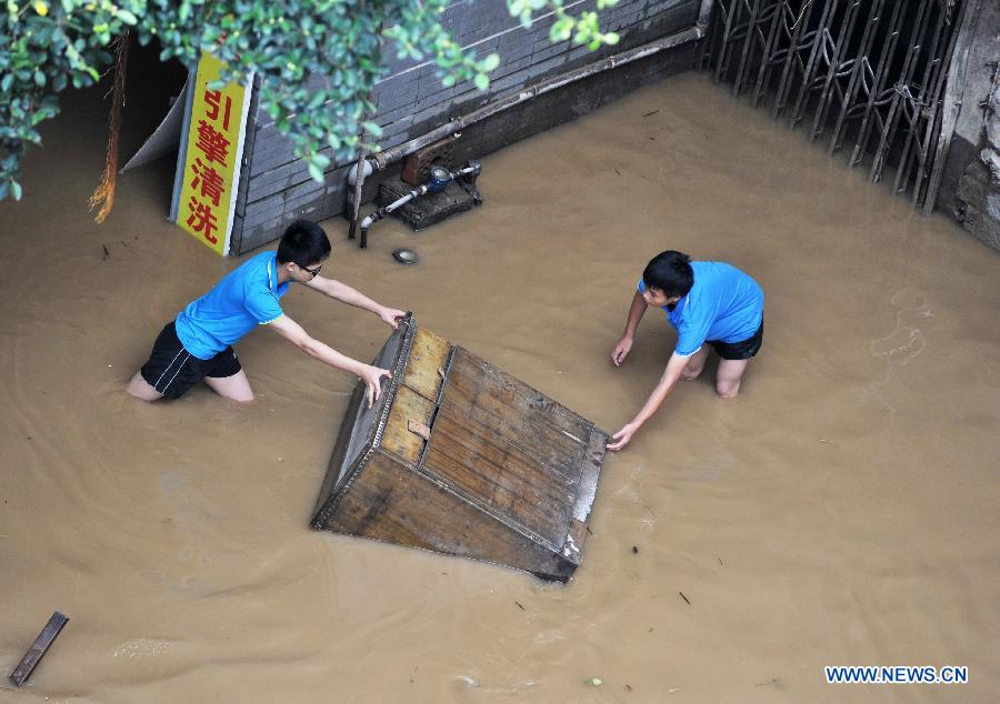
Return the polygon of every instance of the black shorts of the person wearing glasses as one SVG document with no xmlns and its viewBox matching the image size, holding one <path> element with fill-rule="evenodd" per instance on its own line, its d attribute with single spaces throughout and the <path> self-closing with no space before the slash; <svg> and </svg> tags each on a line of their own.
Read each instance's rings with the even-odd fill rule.
<svg viewBox="0 0 1000 704">
<path fill-rule="evenodd" d="M 180 399 L 206 376 L 232 376 L 242 368 L 232 348 L 226 348 L 210 360 L 200 360 L 184 349 L 173 323 L 167 323 L 153 343 L 149 361 L 139 372 L 146 382 L 168 399 Z"/>
</svg>

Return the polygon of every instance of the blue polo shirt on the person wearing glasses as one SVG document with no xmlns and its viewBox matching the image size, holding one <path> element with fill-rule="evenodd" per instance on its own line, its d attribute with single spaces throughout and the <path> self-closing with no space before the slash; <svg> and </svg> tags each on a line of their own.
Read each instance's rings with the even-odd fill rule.
<svg viewBox="0 0 1000 704">
<path fill-rule="evenodd" d="M 262 252 L 178 313 L 177 336 L 192 355 L 210 360 L 254 326 L 281 318 L 278 301 L 288 285 L 278 285 L 277 253 Z"/>
</svg>

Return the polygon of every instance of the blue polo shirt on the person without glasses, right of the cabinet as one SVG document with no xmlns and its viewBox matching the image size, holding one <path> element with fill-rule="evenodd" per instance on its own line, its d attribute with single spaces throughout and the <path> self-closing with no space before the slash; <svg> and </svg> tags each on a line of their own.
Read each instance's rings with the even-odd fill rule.
<svg viewBox="0 0 1000 704">
<path fill-rule="evenodd" d="M 742 342 L 752 338 L 763 321 L 763 289 L 736 266 L 724 262 L 691 262 L 694 285 L 673 310 L 663 305 L 677 329 L 674 352 L 690 356 L 706 342 Z M 646 284 L 639 281 L 639 291 Z"/>
</svg>

